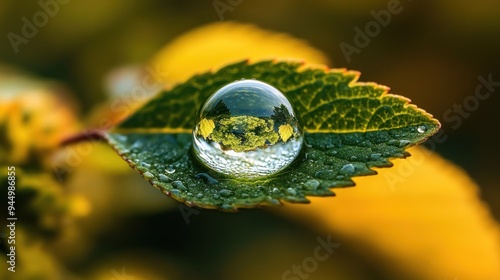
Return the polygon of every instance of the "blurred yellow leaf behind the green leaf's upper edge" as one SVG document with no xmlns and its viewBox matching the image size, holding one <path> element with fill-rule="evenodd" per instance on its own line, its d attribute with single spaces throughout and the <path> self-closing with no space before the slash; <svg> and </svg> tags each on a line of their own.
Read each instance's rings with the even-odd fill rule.
<svg viewBox="0 0 500 280">
<path fill-rule="evenodd" d="M 166 45 L 150 66 L 163 82 L 182 82 L 193 74 L 244 59 L 303 59 L 328 64 L 328 58 L 305 41 L 250 24 L 222 22 L 196 28 Z"/>
</svg>

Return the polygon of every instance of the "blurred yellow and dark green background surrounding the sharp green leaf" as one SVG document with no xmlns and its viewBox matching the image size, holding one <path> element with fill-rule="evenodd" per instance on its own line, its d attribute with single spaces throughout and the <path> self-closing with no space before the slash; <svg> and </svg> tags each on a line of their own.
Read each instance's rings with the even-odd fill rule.
<svg viewBox="0 0 500 280">
<path fill-rule="evenodd" d="M 402 11 L 392 14 L 390 23 L 349 59 L 340 44 L 355 46 L 354 28 L 364 30 L 374 20 L 372 10 L 386 10 L 395 1 L 41 2 L 57 3 L 51 6 L 53 15 L 16 47 L 9 34 L 22 36 L 23 18 L 33 22 L 42 6 L 37 1 L 0 2 L 0 163 L 2 168 L 18 167 L 22 218 L 17 231 L 19 271 L 2 279 L 281 279 L 292 265 L 312 256 L 318 237 L 329 235 L 341 246 L 318 263 L 309 279 L 499 279 L 493 276 L 498 272 L 494 268 L 490 272 L 466 260 L 474 260 L 476 254 L 489 256 L 483 262 L 494 263 L 500 250 L 500 86 L 477 109 L 460 117 L 460 125 L 444 116 L 474 95 L 479 76 L 491 75 L 500 82 L 498 1 L 401 0 Z M 191 41 L 178 40 L 207 24 L 237 23 L 253 26 L 246 27 L 250 28 L 246 33 L 228 27 L 217 33 L 205 31 Z M 257 36 L 259 28 L 268 35 L 288 35 Z M 318 202 L 314 210 L 286 205 L 238 214 L 179 208 L 105 145 L 57 147 L 65 136 L 103 126 L 103 119 L 122 118 L 138 106 L 144 96 L 130 99 L 126 112 L 112 110 L 116 100 L 129 100 L 131 89 L 149 73 L 148 65 L 153 69 L 158 63 L 168 65 L 161 86 L 170 86 L 181 77 L 221 66 L 213 61 L 227 59 L 232 43 L 218 45 L 218 52 L 195 49 L 187 54 L 183 49 L 213 38 L 239 36 L 254 40 L 237 53 L 240 59 L 254 57 L 272 43 L 278 44 L 273 49 L 277 56 L 280 51 L 295 52 L 317 60 L 312 62 L 358 70 L 361 81 L 387 85 L 433 114 L 446 139 L 432 146 L 436 154 L 410 167 L 417 171 L 403 176 L 396 169 L 405 179 L 396 186 L 387 186 L 388 177 L 383 175 L 360 178 L 356 188 L 339 191 L 337 198 Z M 290 36 L 303 41 L 288 44 L 294 40 Z M 163 56 L 158 55 L 162 49 Z M 407 192 L 409 186 L 422 191 Z M 356 193 L 372 187 L 381 188 L 384 196 Z M 467 195 L 456 195 L 462 189 Z M 399 194 L 404 194 L 401 204 L 426 214 L 399 219 L 384 219 L 383 211 L 382 216 L 355 215 L 389 209 L 387 205 L 401 199 Z M 353 200 L 342 202 L 342 196 L 350 195 Z M 453 212 L 455 208 L 446 204 L 455 203 L 452 199 L 457 197 L 466 205 L 460 204 L 463 212 Z M 349 208 L 352 201 L 359 205 Z M 405 205 L 398 207 L 408 210 Z M 326 221 L 328 215 L 335 217 L 333 222 Z M 477 216 L 471 218 L 474 223 L 467 223 L 469 216 Z M 339 222 L 342 217 L 352 218 L 351 222 Z M 463 227 L 477 228 L 477 233 L 460 237 L 461 227 L 443 223 L 459 223 L 460 218 Z M 419 224 L 412 228 L 415 219 Z M 359 227 L 351 227 L 354 224 Z M 442 235 L 433 235 L 437 225 Z M 380 231 L 384 226 L 385 235 Z M 391 231 L 405 227 L 412 230 Z M 482 232 L 483 228 L 487 230 Z M 372 239 L 377 234 L 388 238 Z M 419 237 L 429 240 L 422 243 L 428 247 L 412 247 L 410 243 L 418 244 Z M 477 251 L 446 247 L 450 239 L 467 240 L 467 248 Z M 491 243 L 476 243 L 483 239 Z M 433 250 L 448 250 L 449 256 L 437 257 Z M 454 261 L 460 252 L 466 255 L 460 259 L 466 264 Z M 467 265 L 470 270 L 463 268 Z M 471 275 L 477 277 L 467 278 Z"/>
</svg>

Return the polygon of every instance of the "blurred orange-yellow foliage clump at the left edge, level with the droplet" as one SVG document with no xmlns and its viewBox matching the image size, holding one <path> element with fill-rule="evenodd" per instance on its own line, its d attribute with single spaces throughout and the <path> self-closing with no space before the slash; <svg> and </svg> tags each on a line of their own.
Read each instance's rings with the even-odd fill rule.
<svg viewBox="0 0 500 280">
<path fill-rule="evenodd" d="M 0 137 L 8 143 L 0 161 L 9 164 L 55 149 L 79 128 L 74 108 L 62 95 L 41 83 L 30 86 L 33 82 L 29 81 L 13 82 L 15 86 L 6 79 L 0 81 L 0 127 L 6 128 Z M 19 90 L 12 91 L 16 86 Z"/>
</svg>

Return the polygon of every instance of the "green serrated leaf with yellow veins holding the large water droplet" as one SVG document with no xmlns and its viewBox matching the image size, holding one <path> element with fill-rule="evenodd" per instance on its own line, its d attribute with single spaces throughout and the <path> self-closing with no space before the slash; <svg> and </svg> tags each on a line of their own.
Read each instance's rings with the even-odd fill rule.
<svg viewBox="0 0 500 280">
<path fill-rule="evenodd" d="M 358 76 L 291 61 L 235 63 L 161 92 L 106 138 L 153 186 L 187 205 L 234 211 L 307 203 L 307 196 L 331 196 L 330 188 L 354 186 L 353 176 L 376 174 L 372 167 L 391 166 L 389 158 L 408 156 L 406 148 L 440 126 L 408 99 L 375 83 L 359 83 Z M 305 146 L 291 166 L 252 181 L 219 175 L 190 151 L 196 110 L 217 89 L 243 78 L 283 92 L 305 131 Z"/>
</svg>

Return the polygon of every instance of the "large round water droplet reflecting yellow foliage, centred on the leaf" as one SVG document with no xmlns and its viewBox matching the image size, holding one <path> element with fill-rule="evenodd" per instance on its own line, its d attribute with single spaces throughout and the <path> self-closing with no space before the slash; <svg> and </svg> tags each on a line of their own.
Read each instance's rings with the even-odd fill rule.
<svg viewBox="0 0 500 280">
<path fill-rule="evenodd" d="M 194 155 L 210 169 L 258 178 L 286 168 L 304 142 L 288 99 L 256 80 L 228 84 L 200 109 L 193 130 Z"/>
</svg>

